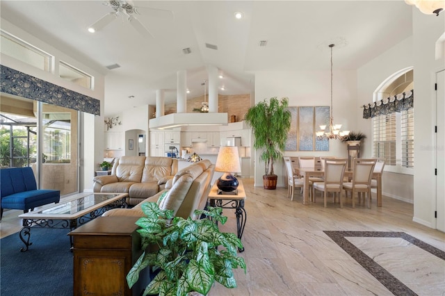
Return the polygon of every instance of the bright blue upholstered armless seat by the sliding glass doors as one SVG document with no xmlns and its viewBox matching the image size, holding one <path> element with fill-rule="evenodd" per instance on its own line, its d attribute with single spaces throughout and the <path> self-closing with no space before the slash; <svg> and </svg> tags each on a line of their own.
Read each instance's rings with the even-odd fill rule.
<svg viewBox="0 0 445 296">
<path fill-rule="evenodd" d="M 23 210 L 27 213 L 30 209 L 51 202 L 60 201 L 60 190 L 37 189 L 35 177 L 31 167 L 8 167 L 0 170 L 0 197 L 1 213 L 3 208 Z"/>
</svg>

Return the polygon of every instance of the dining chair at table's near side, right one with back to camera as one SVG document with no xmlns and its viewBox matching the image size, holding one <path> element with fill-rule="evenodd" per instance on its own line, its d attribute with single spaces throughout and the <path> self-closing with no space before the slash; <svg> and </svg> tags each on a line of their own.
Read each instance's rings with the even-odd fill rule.
<svg viewBox="0 0 445 296">
<path fill-rule="evenodd" d="M 357 192 L 359 202 L 362 199 L 362 193 L 368 198 L 368 208 L 371 208 L 371 178 L 377 159 L 375 158 L 354 158 L 353 161 L 353 180 L 343 183 L 345 196 L 351 192 L 353 199 L 353 208 L 355 208 L 355 193 Z"/>
</svg>

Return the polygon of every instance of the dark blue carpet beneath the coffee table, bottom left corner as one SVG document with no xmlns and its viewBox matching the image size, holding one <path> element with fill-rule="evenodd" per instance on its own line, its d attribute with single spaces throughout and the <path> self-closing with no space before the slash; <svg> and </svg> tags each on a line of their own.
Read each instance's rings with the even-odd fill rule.
<svg viewBox="0 0 445 296">
<path fill-rule="evenodd" d="M 19 233 L 0 240 L 0 295 L 63 296 L 73 293 L 73 254 L 70 229 L 31 229 L 33 243 L 24 243 Z"/>
</svg>

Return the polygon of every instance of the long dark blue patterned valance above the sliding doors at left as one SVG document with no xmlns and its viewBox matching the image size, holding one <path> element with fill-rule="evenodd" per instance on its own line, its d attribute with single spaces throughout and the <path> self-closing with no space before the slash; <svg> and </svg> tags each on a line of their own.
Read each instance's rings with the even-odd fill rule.
<svg viewBox="0 0 445 296">
<path fill-rule="evenodd" d="M 100 101 L 0 65 L 0 91 L 73 110 L 100 115 Z"/>
</svg>

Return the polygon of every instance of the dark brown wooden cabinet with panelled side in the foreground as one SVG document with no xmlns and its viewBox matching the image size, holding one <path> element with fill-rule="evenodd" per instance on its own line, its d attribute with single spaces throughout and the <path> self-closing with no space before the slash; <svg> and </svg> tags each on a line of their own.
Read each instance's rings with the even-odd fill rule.
<svg viewBox="0 0 445 296">
<path fill-rule="evenodd" d="M 138 260 L 138 217 L 97 217 L 69 233 L 73 239 L 73 295 L 140 295 L 148 269 L 133 288 L 127 274 Z"/>
</svg>

